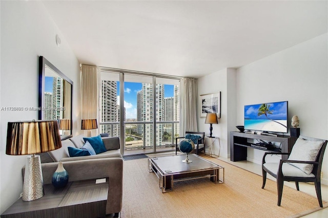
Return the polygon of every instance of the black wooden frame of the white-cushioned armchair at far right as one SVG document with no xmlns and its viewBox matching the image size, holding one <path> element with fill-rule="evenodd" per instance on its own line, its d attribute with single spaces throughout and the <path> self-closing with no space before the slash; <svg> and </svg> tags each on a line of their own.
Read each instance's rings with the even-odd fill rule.
<svg viewBox="0 0 328 218">
<path fill-rule="evenodd" d="M 274 178 L 277 179 L 277 189 L 278 189 L 278 203 L 277 205 L 280 206 L 281 204 L 281 197 L 282 197 L 282 189 L 283 189 L 283 181 L 288 181 L 288 182 L 295 182 L 296 189 L 299 191 L 299 182 L 314 182 L 315 188 L 316 188 L 316 193 L 317 193 L 317 198 L 319 201 L 320 207 L 322 207 L 322 199 L 321 199 L 321 166 L 322 166 L 322 160 L 323 160 L 323 155 L 324 155 L 324 150 L 327 145 L 327 140 L 322 140 L 322 139 L 316 139 L 316 138 L 311 138 L 311 137 L 305 137 L 305 136 L 299 136 L 299 138 L 302 138 L 304 140 L 310 140 L 310 141 L 323 141 L 323 145 L 321 146 L 319 150 L 319 155 L 316 159 L 316 161 L 294 161 L 294 160 L 280 160 L 279 163 L 279 168 L 278 172 L 272 172 L 269 169 L 265 168 L 263 164 L 265 163 L 265 156 L 267 155 L 277 155 L 275 152 L 266 152 L 263 156 L 262 159 L 262 189 L 265 186 L 265 181 L 267 180 L 267 172 L 273 176 Z M 279 155 L 290 155 L 290 153 L 279 153 Z M 282 164 L 283 163 L 310 163 L 313 164 L 313 170 L 312 173 L 314 174 L 315 177 L 313 178 L 304 178 L 304 177 L 285 177 L 283 176 L 282 173 Z"/>
</svg>

